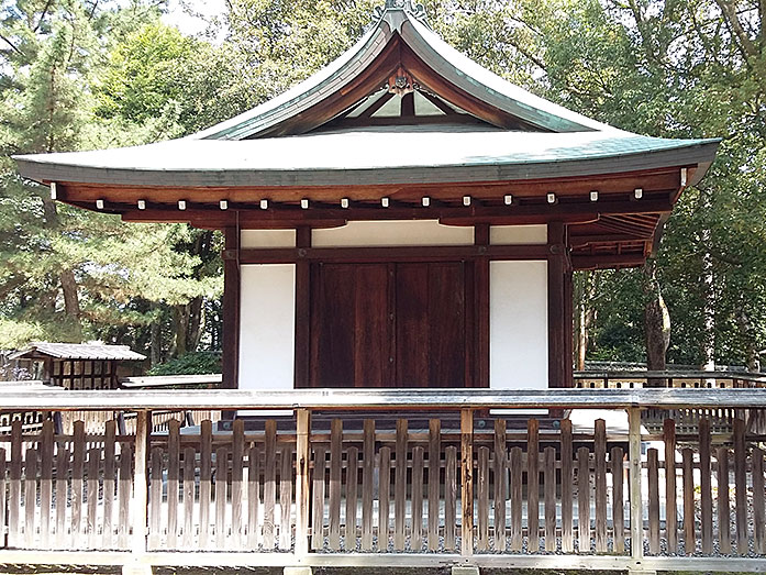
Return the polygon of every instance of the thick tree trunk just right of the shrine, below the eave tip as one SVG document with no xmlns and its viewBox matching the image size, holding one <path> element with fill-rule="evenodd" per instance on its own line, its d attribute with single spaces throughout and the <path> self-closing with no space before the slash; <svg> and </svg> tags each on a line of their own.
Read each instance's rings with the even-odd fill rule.
<svg viewBox="0 0 766 575">
<path fill-rule="evenodd" d="M 668 312 L 663 294 L 657 281 L 656 268 L 653 261 L 644 265 L 644 331 L 646 335 L 646 368 L 651 372 L 662 372 L 666 368 L 665 354 L 670 345 L 670 313 Z M 648 387 L 666 387 L 663 378 L 652 378 L 646 382 Z"/>
</svg>

